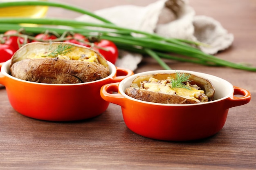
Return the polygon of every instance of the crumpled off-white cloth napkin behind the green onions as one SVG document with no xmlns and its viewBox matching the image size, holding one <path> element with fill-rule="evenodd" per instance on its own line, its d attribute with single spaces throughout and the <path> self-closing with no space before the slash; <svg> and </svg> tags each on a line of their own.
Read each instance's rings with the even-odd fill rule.
<svg viewBox="0 0 256 170">
<path fill-rule="evenodd" d="M 164 37 L 199 41 L 207 46 L 199 48 L 208 54 L 216 54 L 231 46 L 233 34 L 225 30 L 220 22 L 204 15 L 195 15 L 188 0 L 158 0 L 146 7 L 122 5 L 94 11 L 114 24 Z M 82 15 L 76 20 L 99 22 Z M 134 71 L 141 62 L 142 56 L 121 51 L 116 66 Z"/>
</svg>

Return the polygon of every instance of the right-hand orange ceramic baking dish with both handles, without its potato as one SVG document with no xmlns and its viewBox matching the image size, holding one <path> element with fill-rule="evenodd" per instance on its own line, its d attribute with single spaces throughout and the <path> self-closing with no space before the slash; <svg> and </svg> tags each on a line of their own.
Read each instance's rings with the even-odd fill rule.
<svg viewBox="0 0 256 170">
<path fill-rule="evenodd" d="M 101 97 L 121 106 L 124 121 L 130 130 L 144 137 L 167 141 L 210 137 L 224 126 L 229 108 L 247 104 L 251 99 L 249 91 L 243 88 L 235 87 L 220 77 L 193 71 L 178 72 L 191 73 L 210 80 L 216 89 L 213 101 L 200 104 L 157 104 L 125 94 L 125 89 L 139 75 L 175 72 L 161 70 L 132 75 L 120 83 L 104 85 L 101 88 Z"/>
</svg>

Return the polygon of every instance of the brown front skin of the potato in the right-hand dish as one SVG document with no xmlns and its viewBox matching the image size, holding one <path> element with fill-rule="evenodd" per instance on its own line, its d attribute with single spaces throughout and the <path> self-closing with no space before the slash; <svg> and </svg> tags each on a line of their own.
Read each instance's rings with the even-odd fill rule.
<svg viewBox="0 0 256 170">
<path fill-rule="evenodd" d="M 145 102 L 162 103 L 162 104 L 195 104 L 198 103 L 193 99 L 187 99 L 178 95 L 169 95 L 165 93 L 147 91 L 144 89 L 128 87 L 125 90 L 126 95 Z"/>
</svg>

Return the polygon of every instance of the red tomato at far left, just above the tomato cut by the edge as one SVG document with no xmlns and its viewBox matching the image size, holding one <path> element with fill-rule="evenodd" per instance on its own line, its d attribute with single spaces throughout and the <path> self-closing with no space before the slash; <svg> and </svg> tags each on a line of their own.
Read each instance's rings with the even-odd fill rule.
<svg viewBox="0 0 256 170">
<path fill-rule="evenodd" d="M 16 34 L 16 33 L 18 33 L 18 31 L 9 30 L 9 31 L 6 31 L 4 35 L 10 35 L 10 34 Z M 24 43 L 24 38 L 21 38 L 18 36 L 10 36 L 9 38 L 4 37 L 4 40 L 5 40 L 4 44 L 10 45 L 11 47 L 13 47 L 15 51 L 17 51 L 20 48 L 19 44 L 22 45 Z"/>
</svg>

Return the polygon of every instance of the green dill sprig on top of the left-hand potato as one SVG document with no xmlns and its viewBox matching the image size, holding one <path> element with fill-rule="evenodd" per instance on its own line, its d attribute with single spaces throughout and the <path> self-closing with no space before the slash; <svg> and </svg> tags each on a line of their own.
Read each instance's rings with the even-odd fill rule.
<svg viewBox="0 0 256 170">
<path fill-rule="evenodd" d="M 56 47 L 50 44 L 47 54 L 42 55 L 42 57 L 58 57 L 58 55 L 66 55 L 72 51 L 73 47 L 73 45 L 63 43 L 58 44 Z"/>
</svg>

